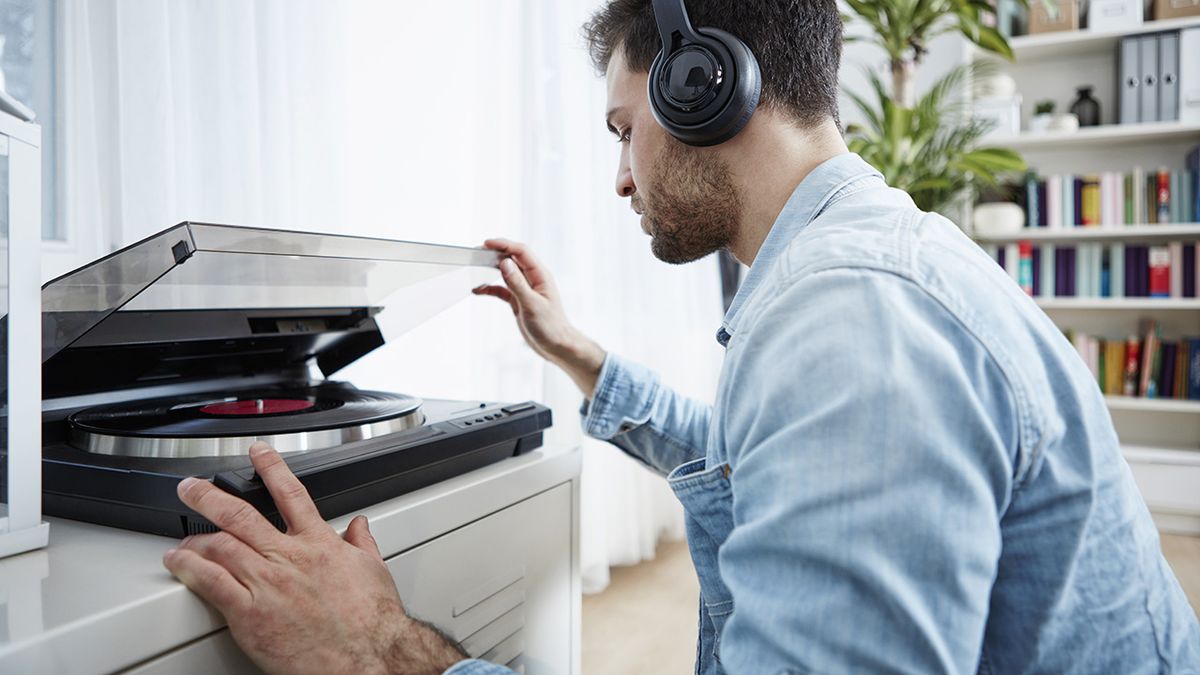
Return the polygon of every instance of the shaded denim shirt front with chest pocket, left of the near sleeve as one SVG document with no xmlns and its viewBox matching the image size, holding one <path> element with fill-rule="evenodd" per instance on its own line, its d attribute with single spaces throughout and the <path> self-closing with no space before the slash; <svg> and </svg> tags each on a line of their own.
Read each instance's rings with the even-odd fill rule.
<svg viewBox="0 0 1200 675">
<path fill-rule="evenodd" d="M 718 646 L 725 622 L 733 614 L 733 596 L 721 579 L 718 551 L 733 530 L 733 491 L 730 465 L 709 468 L 707 460 L 690 461 L 667 477 L 683 504 L 688 526 L 688 548 L 700 578 L 700 661 L 698 673 L 719 673 Z M 712 658 L 716 663 L 706 661 Z"/>
</svg>

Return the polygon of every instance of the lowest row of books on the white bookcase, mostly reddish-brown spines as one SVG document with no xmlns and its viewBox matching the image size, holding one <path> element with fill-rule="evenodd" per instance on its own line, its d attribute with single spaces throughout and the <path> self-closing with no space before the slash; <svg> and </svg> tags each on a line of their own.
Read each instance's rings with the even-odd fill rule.
<svg viewBox="0 0 1200 675">
<path fill-rule="evenodd" d="M 1140 335 L 1123 340 L 1074 330 L 1067 339 L 1106 395 L 1200 400 L 1200 338 L 1164 340 L 1144 322 Z"/>
</svg>

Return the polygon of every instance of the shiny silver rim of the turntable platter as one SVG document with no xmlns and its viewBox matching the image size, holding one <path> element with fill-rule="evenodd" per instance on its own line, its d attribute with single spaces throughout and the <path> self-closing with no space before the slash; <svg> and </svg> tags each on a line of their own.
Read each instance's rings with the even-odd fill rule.
<svg viewBox="0 0 1200 675">
<path fill-rule="evenodd" d="M 80 450 L 97 455 L 146 459 L 245 456 L 250 447 L 258 441 L 270 444 L 281 453 L 307 453 L 332 448 L 343 443 L 353 443 L 354 441 L 378 438 L 379 436 L 421 426 L 425 424 L 425 413 L 420 410 L 420 402 L 418 399 L 416 406 L 412 411 L 398 417 L 337 429 L 260 436 L 218 436 L 211 438 L 142 438 L 72 429 L 71 444 Z"/>
</svg>

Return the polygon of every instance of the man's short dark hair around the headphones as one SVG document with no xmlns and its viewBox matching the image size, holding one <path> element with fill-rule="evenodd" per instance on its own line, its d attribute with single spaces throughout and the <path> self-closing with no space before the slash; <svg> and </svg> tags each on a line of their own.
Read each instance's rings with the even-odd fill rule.
<svg viewBox="0 0 1200 675">
<path fill-rule="evenodd" d="M 762 68 L 762 103 L 812 126 L 838 119 L 841 14 L 835 0 L 689 0 L 696 28 L 742 38 Z M 649 72 L 662 47 L 650 0 L 611 0 L 583 26 L 604 74 L 617 49 L 630 70 Z"/>
</svg>

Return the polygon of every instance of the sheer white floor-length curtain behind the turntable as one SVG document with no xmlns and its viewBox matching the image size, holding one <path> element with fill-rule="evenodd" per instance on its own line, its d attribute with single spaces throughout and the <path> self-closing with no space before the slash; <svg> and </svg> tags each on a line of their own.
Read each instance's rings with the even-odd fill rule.
<svg viewBox="0 0 1200 675">
<path fill-rule="evenodd" d="M 61 0 L 65 216 L 76 264 L 184 220 L 478 245 L 528 241 L 605 347 L 712 399 L 713 259 L 653 259 L 613 192 L 618 148 L 580 26 L 599 0 Z M 67 263 L 62 263 L 66 265 Z M 47 269 L 47 275 L 64 269 Z M 466 292 L 466 289 L 464 289 Z M 389 315 L 380 319 L 389 333 Z M 682 537 L 661 479 L 582 438 L 578 392 L 506 307 L 460 303 L 340 378 L 554 408 L 584 448 L 582 566 Z"/>
</svg>

